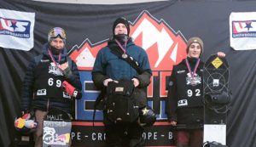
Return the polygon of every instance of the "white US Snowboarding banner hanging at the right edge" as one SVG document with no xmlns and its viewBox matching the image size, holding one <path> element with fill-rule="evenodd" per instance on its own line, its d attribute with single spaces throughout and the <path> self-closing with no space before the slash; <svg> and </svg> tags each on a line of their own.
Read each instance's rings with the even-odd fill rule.
<svg viewBox="0 0 256 147">
<path fill-rule="evenodd" d="M 230 14 L 230 47 L 235 50 L 256 49 L 256 12 Z"/>
</svg>

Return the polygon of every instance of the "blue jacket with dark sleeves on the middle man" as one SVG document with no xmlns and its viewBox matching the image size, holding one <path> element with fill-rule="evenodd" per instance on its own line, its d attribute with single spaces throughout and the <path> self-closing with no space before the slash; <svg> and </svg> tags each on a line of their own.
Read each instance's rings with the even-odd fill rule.
<svg viewBox="0 0 256 147">
<path fill-rule="evenodd" d="M 108 42 L 108 46 L 102 48 L 97 56 L 92 71 L 92 80 L 97 88 L 104 88 L 103 81 L 111 78 L 119 81 L 121 79 L 131 80 L 136 77 L 139 80 L 139 86 L 137 87 L 137 100 L 140 106 L 147 105 L 147 95 L 145 88 L 150 83 L 150 77 L 152 75 L 148 54 L 143 48 L 138 47 L 129 39 L 125 48 L 126 54 L 129 54 L 132 58 L 136 59 L 138 65 L 142 69 L 143 73 L 138 72 L 131 67 L 125 60 L 119 59 L 119 57 L 111 52 L 110 48 L 119 48 L 118 44 L 113 40 Z M 120 48 L 119 48 L 120 49 Z"/>
</svg>

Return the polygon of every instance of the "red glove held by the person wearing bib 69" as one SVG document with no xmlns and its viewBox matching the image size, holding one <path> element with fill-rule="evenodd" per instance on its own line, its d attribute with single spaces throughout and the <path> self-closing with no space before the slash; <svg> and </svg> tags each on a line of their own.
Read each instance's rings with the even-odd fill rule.
<svg viewBox="0 0 256 147">
<path fill-rule="evenodd" d="M 75 99 L 82 98 L 82 93 L 78 89 L 74 88 L 67 81 L 62 82 L 62 88 L 64 89 L 65 92 L 67 92 L 70 96 L 74 97 Z"/>
</svg>

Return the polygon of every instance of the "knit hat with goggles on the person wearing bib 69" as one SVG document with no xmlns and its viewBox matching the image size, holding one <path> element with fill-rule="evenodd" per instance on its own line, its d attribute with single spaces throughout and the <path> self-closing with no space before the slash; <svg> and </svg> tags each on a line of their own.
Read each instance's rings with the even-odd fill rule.
<svg viewBox="0 0 256 147">
<path fill-rule="evenodd" d="M 49 30 L 48 33 L 48 42 L 51 42 L 53 38 L 61 37 L 64 43 L 66 43 L 66 32 L 61 27 L 55 27 Z"/>
</svg>

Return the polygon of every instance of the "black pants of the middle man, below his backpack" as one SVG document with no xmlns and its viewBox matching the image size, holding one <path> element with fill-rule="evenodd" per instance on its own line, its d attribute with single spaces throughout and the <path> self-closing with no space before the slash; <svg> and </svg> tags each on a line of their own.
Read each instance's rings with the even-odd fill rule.
<svg viewBox="0 0 256 147">
<path fill-rule="evenodd" d="M 105 124 L 106 144 L 108 147 L 143 146 L 143 127 L 137 122 L 128 124 Z"/>
</svg>

